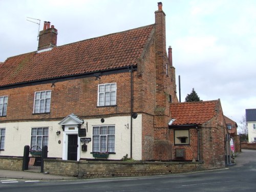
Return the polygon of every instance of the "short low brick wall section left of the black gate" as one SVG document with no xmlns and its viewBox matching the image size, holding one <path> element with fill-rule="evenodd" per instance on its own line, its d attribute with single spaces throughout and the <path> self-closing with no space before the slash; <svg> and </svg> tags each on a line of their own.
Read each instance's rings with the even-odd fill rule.
<svg viewBox="0 0 256 192">
<path fill-rule="evenodd" d="M 0 157 L 0 169 L 22 170 L 23 158 Z"/>
</svg>

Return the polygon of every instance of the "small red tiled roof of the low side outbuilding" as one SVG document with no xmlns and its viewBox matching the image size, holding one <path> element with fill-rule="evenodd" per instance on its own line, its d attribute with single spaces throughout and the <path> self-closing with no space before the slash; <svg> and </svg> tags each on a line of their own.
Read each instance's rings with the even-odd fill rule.
<svg viewBox="0 0 256 192">
<path fill-rule="evenodd" d="M 217 114 L 219 100 L 170 104 L 172 125 L 203 124 Z"/>
</svg>

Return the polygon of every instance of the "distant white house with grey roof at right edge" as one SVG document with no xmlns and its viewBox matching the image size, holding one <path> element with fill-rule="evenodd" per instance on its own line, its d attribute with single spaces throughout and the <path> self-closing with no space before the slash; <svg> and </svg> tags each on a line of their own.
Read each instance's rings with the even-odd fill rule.
<svg viewBox="0 0 256 192">
<path fill-rule="evenodd" d="M 256 109 L 246 109 L 245 118 L 248 128 L 248 141 L 254 143 L 256 142 Z"/>
</svg>

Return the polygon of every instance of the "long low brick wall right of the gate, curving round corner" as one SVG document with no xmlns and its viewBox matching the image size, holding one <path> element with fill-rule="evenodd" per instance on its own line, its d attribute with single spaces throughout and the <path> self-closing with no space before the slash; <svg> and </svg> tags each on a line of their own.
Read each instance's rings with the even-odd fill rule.
<svg viewBox="0 0 256 192">
<path fill-rule="evenodd" d="M 203 170 L 201 162 L 114 162 L 45 159 L 44 171 L 79 178 L 151 176 Z"/>
</svg>

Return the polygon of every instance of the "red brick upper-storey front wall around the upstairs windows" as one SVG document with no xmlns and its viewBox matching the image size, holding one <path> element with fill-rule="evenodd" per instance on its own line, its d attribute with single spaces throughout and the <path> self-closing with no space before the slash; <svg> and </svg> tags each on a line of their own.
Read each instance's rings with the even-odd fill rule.
<svg viewBox="0 0 256 192">
<path fill-rule="evenodd" d="M 112 82 L 117 82 L 117 106 L 97 107 L 98 84 Z M 89 77 L 55 82 L 55 87 L 51 86 L 52 83 L 47 83 L 1 90 L 0 95 L 9 96 L 7 116 L 1 117 L 1 120 L 62 119 L 71 113 L 80 117 L 130 113 L 129 72 L 101 76 L 99 80 Z M 52 90 L 50 113 L 33 114 L 34 94 L 45 90 Z"/>
</svg>

